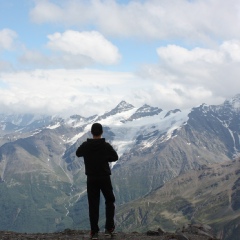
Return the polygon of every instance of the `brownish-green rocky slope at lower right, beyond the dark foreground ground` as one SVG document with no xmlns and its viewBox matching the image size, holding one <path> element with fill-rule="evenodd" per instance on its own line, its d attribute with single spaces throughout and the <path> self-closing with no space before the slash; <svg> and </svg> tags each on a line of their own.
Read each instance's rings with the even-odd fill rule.
<svg viewBox="0 0 240 240">
<path fill-rule="evenodd" d="M 182 174 L 145 197 L 118 208 L 123 229 L 162 226 L 171 231 L 188 222 L 204 222 L 223 239 L 240 226 L 240 160 L 206 165 Z M 238 229 L 238 230 L 237 230 Z"/>
</svg>

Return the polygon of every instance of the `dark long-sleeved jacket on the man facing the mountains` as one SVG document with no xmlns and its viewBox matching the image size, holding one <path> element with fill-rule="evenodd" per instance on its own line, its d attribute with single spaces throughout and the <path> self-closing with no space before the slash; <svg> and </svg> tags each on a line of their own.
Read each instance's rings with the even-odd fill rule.
<svg viewBox="0 0 240 240">
<path fill-rule="evenodd" d="M 116 151 L 105 142 L 105 138 L 87 139 L 79 146 L 76 155 L 84 158 L 85 174 L 88 176 L 111 175 L 109 162 L 118 160 Z"/>
</svg>

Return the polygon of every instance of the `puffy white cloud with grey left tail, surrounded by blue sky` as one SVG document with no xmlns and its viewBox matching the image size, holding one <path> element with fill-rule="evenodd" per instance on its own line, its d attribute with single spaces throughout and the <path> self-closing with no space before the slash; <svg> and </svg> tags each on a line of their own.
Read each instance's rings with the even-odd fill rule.
<svg viewBox="0 0 240 240">
<path fill-rule="evenodd" d="M 94 64 L 112 65 L 120 61 L 118 48 L 99 32 L 68 30 L 48 35 L 50 54 L 25 49 L 19 62 L 37 68 L 84 68 Z"/>
</svg>

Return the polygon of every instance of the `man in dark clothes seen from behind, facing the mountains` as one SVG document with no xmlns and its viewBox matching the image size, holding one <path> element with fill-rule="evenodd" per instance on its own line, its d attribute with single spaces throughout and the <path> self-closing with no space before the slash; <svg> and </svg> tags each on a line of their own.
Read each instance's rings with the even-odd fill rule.
<svg viewBox="0 0 240 240">
<path fill-rule="evenodd" d="M 105 138 L 102 138 L 103 128 L 100 123 L 92 125 L 91 133 L 93 138 L 88 138 L 83 142 L 77 149 L 76 155 L 84 158 L 91 225 L 90 235 L 91 239 L 98 239 L 100 191 L 105 198 L 106 205 L 105 234 L 114 234 L 115 196 L 110 178 L 109 162 L 117 161 L 118 155 L 113 147 L 105 142 Z"/>
</svg>

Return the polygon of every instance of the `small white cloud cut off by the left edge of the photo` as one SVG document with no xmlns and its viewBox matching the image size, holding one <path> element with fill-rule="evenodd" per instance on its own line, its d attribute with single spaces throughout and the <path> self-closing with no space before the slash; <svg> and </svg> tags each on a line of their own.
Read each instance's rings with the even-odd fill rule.
<svg viewBox="0 0 240 240">
<path fill-rule="evenodd" d="M 14 40 L 17 38 L 16 32 L 11 29 L 3 29 L 0 31 L 0 50 L 11 50 Z"/>
</svg>

